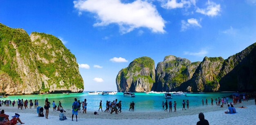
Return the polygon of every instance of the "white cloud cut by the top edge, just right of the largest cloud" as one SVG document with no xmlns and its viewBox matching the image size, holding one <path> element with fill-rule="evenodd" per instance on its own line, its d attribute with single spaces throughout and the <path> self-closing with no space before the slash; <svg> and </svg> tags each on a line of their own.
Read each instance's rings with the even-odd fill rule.
<svg viewBox="0 0 256 125">
<path fill-rule="evenodd" d="M 168 0 L 162 3 L 162 7 L 165 9 L 175 9 L 175 8 L 189 8 L 193 4 L 195 6 L 195 0 L 181 0 L 177 2 L 176 0 Z"/>
</svg>

